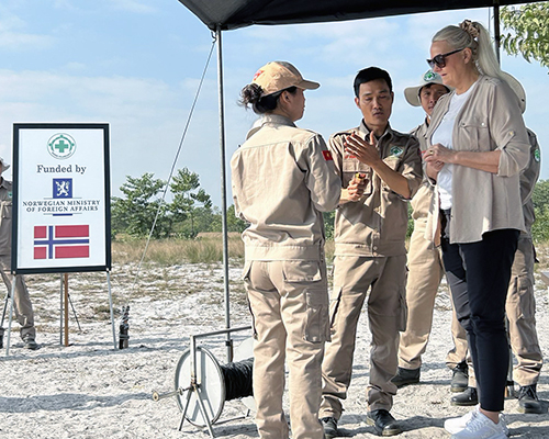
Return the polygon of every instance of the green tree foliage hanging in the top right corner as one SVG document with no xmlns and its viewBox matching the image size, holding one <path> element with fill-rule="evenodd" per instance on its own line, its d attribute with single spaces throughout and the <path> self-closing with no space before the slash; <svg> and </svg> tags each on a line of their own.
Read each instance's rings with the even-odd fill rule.
<svg viewBox="0 0 549 439">
<path fill-rule="evenodd" d="M 549 2 L 524 4 L 501 10 L 503 26 L 502 47 L 509 55 L 522 54 L 530 63 L 549 67 Z"/>
</svg>

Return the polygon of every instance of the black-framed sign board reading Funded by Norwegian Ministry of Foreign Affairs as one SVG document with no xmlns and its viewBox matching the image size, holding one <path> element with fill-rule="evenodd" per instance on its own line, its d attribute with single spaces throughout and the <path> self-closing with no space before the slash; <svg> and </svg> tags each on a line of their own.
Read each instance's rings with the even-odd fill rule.
<svg viewBox="0 0 549 439">
<path fill-rule="evenodd" d="M 13 125 L 12 271 L 111 269 L 108 124 Z"/>
</svg>

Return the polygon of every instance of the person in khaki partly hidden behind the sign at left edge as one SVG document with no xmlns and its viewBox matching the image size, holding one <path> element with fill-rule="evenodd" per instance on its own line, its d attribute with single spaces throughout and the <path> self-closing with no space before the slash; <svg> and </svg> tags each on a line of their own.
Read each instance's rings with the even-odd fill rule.
<svg viewBox="0 0 549 439">
<path fill-rule="evenodd" d="M 16 319 L 21 325 L 21 338 L 26 349 L 34 350 L 38 349 L 38 345 L 35 341 L 36 329 L 34 328 L 34 314 L 29 290 L 21 274 L 15 277 L 11 274 L 12 183 L 1 177 L 2 172 L 9 167 L 0 157 L 0 274 L 2 274 L 2 280 L 10 294 L 13 279 L 15 279 L 13 304 Z M 8 304 L 5 303 L 4 305 Z M 3 346 L 3 327 L 0 327 L 0 347 Z"/>
</svg>

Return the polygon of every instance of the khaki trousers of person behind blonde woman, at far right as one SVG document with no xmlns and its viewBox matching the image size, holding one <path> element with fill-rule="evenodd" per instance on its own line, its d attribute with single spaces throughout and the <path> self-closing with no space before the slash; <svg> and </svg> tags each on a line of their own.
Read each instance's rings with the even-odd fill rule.
<svg viewBox="0 0 549 439">
<path fill-rule="evenodd" d="M 534 260 L 531 236 L 522 233 L 511 269 L 511 282 L 505 302 L 511 348 L 517 360 L 513 369 L 513 381 L 520 386 L 536 384 L 544 364 L 536 330 Z M 469 386 L 477 387 L 472 363 L 469 364 Z"/>
</svg>

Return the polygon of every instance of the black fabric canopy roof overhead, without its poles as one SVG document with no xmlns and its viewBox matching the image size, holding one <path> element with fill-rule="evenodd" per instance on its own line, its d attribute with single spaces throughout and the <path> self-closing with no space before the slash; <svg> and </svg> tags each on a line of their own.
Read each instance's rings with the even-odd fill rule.
<svg viewBox="0 0 549 439">
<path fill-rule="evenodd" d="M 513 0 L 179 0 L 212 31 L 500 7 Z"/>
</svg>

